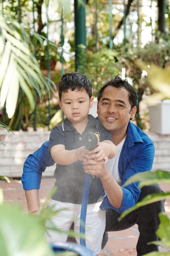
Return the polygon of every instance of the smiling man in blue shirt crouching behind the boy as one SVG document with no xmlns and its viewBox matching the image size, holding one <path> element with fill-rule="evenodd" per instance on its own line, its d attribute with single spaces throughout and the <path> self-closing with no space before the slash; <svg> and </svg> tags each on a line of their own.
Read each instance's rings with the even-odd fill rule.
<svg viewBox="0 0 170 256">
<path fill-rule="evenodd" d="M 106 191 L 100 206 L 101 209 L 107 210 L 106 231 L 127 229 L 137 223 L 140 233 L 137 243 L 137 256 L 159 251 L 157 245 L 147 245 L 147 243 L 158 240 L 155 231 L 159 225 L 158 214 L 165 211 L 164 201 L 141 207 L 128 214 L 120 222 L 117 221 L 124 210 L 134 206 L 146 195 L 161 192 L 158 184 L 146 186 L 141 190 L 137 183 L 126 187 L 121 186 L 135 173 L 151 170 L 154 160 L 155 149 L 152 141 L 140 128 L 130 122 L 136 114 L 137 94 L 126 79 L 122 80 L 120 76 L 116 76 L 115 79 L 108 81 L 99 90 L 97 99 L 99 122 L 110 131 L 113 142 L 117 146 L 117 153 L 113 159 L 108 161 L 107 166 L 103 161 L 96 162 L 92 157 L 83 164 L 86 173 L 101 179 Z M 49 160 L 48 154 L 46 157 Z M 32 162 L 32 167 L 28 165 L 28 161 L 26 162 L 28 168 L 24 168 L 22 182 L 26 190 L 28 207 L 31 211 L 39 209 L 38 186 L 35 184 L 31 187 L 27 182 L 31 172 L 35 175 L 35 159 Z M 49 162 L 46 164 L 49 164 Z M 44 171 L 46 166 L 42 165 L 43 167 L 39 168 L 39 164 L 37 164 L 38 168 L 40 170 L 44 168 L 42 170 Z M 30 168 L 32 171 L 29 170 Z M 33 195 L 36 196 L 36 200 L 33 200 Z"/>
</svg>

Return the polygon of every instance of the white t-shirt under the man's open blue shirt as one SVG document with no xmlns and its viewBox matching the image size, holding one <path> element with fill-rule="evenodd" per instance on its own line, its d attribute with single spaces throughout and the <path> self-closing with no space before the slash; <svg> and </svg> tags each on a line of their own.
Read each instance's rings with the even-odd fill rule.
<svg viewBox="0 0 170 256">
<path fill-rule="evenodd" d="M 120 157 L 120 153 L 121 153 L 121 149 L 124 145 L 126 136 L 124 137 L 124 139 L 116 146 L 117 152 L 115 157 L 108 159 L 107 162 L 107 167 L 110 170 L 110 173 L 112 173 L 113 177 L 115 178 L 115 180 L 117 181 L 117 183 L 120 185 L 121 184 L 121 179 L 119 176 L 119 171 L 118 171 L 118 163 L 119 163 L 119 157 Z"/>
</svg>

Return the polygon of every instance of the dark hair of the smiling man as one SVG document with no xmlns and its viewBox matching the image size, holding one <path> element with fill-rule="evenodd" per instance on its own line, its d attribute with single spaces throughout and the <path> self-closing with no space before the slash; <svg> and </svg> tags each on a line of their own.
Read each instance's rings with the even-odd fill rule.
<svg viewBox="0 0 170 256">
<path fill-rule="evenodd" d="M 97 100 L 99 101 L 102 97 L 102 94 L 104 92 L 104 89 L 108 87 L 109 85 L 116 87 L 116 88 L 125 88 L 128 91 L 129 94 L 129 102 L 131 105 L 131 110 L 134 106 L 137 106 L 138 104 L 138 95 L 135 92 L 135 90 L 132 88 L 132 85 L 128 83 L 127 79 L 121 79 L 121 75 L 115 76 L 115 78 L 110 79 L 107 83 L 105 83 L 102 88 L 100 88 L 98 94 L 97 94 Z"/>
</svg>

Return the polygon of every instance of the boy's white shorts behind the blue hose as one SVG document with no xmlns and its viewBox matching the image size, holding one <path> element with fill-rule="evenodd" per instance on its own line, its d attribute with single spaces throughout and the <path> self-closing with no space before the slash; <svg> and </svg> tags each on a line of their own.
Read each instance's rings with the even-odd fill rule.
<svg viewBox="0 0 170 256">
<path fill-rule="evenodd" d="M 86 213 L 86 247 L 97 255 L 102 249 L 103 234 L 106 226 L 106 211 L 99 209 L 101 202 L 95 204 L 88 204 Z M 58 229 L 69 231 L 74 222 L 74 231 L 79 233 L 79 223 L 81 214 L 81 204 L 72 204 L 67 202 L 59 202 L 51 200 L 49 207 L 57 212 L 56 216 L 51 218 L 51 221 Z M 46 227 L 53 227 L 51 221 L 46 221 Z M 55 242 L 66 242 L 67 233 L 57 232 L 48 229 L 46 233 L 47 241 L 50 244 Z M 79 244 L 79 237 L 75 235 L 77 244 Z"/>
</svg>

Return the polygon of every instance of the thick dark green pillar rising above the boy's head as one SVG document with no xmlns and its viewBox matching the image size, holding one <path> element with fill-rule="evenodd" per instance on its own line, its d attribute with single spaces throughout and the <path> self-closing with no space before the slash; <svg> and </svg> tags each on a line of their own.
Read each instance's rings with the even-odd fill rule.
<svg viewBox="0 0 170 256">
<path fill-rule="evenodd" d="M 86 16 L 85 16 L 85 4 L 86 0 L 82 0 L 84 4 L 78 3 L 78 0 L 74 0 L 74 13 L 75 13 L 75 71 L 78 71 L 79 67 L 79 54 L 82 52 L 82 48 L 79 45 L 86 47 Z M 84 49 L 83 49 L 84 50 Z"/>
</svg>

